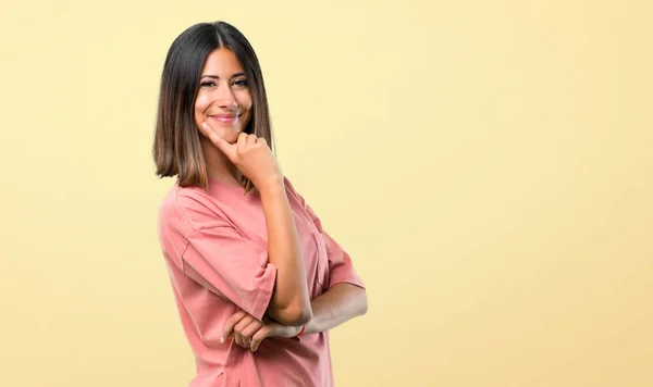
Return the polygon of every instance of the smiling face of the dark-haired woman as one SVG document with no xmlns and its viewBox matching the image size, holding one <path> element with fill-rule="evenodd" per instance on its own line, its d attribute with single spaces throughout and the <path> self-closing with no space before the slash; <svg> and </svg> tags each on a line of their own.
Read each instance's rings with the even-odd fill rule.
<svg viewBox="0 0 653 387">
<path fill-rule="evenodd" d="M 207 122 L 220 137 L 234 143 L 251 120 L 251 93 L 236 55 L 220 48 L 209 54 L 195 100 L 195 123 Z M 201 133 L 201 132 L 200 132 Z"/>
</svg>

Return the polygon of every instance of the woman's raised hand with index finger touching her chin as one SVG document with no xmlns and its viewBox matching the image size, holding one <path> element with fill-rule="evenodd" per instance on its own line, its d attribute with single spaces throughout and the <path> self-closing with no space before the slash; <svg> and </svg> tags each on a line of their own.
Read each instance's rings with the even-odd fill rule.
<svg viewBox="0 0 653 387">
<path fill-rule="evenodd" d="M 279 164 L 264 138 L 241 133 L 236 143 L 229 143 L 205 122 L 204 134 L 220 149 L 241 173 L 260 190 L 270 184 L 282 182 Z"/>
</svg>

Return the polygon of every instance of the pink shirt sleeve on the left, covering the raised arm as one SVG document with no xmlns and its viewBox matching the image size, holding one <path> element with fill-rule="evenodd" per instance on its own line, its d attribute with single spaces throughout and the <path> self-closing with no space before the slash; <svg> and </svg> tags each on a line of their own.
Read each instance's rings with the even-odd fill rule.
<svg viewBox="0 0 653 387">
<path fill-rule="evenodd" d="M 181 261 L 186 275 L 258 320 L 276 279 L 268 251 L 200 203 L 178 198 L 180 222 L 190 224 Z"/>
</svg>

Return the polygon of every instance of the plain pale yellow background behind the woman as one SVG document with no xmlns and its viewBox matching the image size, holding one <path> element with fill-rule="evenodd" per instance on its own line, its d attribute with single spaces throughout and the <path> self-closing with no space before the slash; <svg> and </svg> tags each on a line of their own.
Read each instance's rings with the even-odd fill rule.
<svg viewBox="0 0 653 387">
<path fill-rule="evenodd" d="M 368 286 L 337 386 L 652 386 L 651 4 L 3 2 L 0 385 L 193 376 L 150 147 L 170 43 L 225 20 Z"/>
</svg>

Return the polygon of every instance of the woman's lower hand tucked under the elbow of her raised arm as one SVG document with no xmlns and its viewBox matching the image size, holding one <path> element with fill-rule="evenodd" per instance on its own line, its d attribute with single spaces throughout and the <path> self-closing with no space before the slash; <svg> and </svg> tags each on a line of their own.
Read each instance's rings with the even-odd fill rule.
<svg viewBox="0 0 653 387">
<path fill-rule="evenodd" d="M 260 322 L 245 311 L 237 311 L 224 324 L 221 341 L 232 334 L 234 341 L 255 352 L 267 337 L 293 337 L 299 333 L 299 326 L 285 326 L 276 322 Z"/>
</svg>

